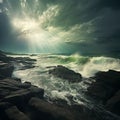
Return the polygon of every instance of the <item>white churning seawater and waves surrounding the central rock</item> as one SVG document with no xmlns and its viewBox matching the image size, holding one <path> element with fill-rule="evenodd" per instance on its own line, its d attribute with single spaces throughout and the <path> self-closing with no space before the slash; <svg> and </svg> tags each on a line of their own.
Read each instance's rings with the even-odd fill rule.
<svg viewBox="0 0 120 120">
<path fill-rule="evenodd" d="M 15 56 L 14 56 L 15 57 Z M 36 59 L 35 67 L 26 70 L 19 70 L 22 64 L 15 65 L 14 77 L 21 78 L 22 81 L 29 81 L 45 90 L 46 99 L 61 99 L 68 104 L 88 103 L 89 99 L 84 95 L 88 85 L 85 81 L 92 82 L 92 79 L 86 79 L 94 76 L 98 71 L 107 71 L 109 69 L 120 71 L 120 60 L 108 57 L 84 57 L 78 54 L 52 55 L 40 54 L 29 56 Z M 83 76 L 80 83 L 69 83 L 66 80 L 54 77 L 48 73 L 52 66 L 63 65 Z"/>
</svg>

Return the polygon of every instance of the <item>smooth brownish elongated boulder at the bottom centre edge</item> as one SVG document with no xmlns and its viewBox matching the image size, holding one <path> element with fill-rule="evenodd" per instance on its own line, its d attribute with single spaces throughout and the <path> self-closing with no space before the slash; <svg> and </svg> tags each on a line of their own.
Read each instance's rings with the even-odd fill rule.
<svg viewBox="0 0 120 120">
<path fill-rule="evenodd" d="M 44 115 L 45 120 L 75 120 L 73 114 L 68 109 L 38 98 L 31 98 L 29 105 L 39 111 L 39 119 Z"/>
</svg>

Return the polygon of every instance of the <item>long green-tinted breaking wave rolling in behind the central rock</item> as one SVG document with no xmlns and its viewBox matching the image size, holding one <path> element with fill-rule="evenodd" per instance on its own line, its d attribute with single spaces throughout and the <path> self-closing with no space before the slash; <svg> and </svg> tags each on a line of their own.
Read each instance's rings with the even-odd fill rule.
<svg viewBox="0 0 120 120">
<path fill-rule="evenodd" d="M 38 61 L 39 62 L 39 61 Z M 48 55 L 45 60 L 46 64 L 64 65 L 78 73 L 83 77 L 92 77 L 98 71 L 107 71 L 109 69 L 120 71 L 120 59 L 110 57 L 86 57 L 79 54 L 70 56 Z"/>
</svg>

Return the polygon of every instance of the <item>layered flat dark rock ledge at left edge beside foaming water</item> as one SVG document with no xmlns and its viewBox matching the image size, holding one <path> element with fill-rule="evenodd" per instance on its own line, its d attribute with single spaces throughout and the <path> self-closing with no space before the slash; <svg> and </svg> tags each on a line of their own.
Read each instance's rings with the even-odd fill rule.
<svg viewBox="0 0 120 120">
<path fill-rule="evenodd" d="M 44 90 L 30 83 L 21 83 L 14 79 L 4 79 L 0 81 L 0 99 L 11 103 L 21 103 L 28 101 L 31 97 L 43 98 Z"/>
</svg>

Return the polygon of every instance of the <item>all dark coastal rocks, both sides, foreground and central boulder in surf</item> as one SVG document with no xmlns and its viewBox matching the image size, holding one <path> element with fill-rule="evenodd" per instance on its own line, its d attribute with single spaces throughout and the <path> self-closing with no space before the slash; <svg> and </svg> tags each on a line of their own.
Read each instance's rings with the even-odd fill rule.
<svg viewBox="0 0 120 120">
<path fill-rule="evenodd" d="M 0 51 L 0 120 L 120 120 L 120 72 L 101 71 L 91 78 L 95 82 L 89 85 L 86 95 L 101 102 L 103 107 L 60 105 L 45 100 L 44 89 L 12 78 L 14 63 L 22 63 L 22 70 L 33 68 L 35 61 L 28 57 L 8 57 Z M 61 65 L 50 69 L 49 74 L 71 83 L 82 81 L 79 73 Z"/>
</svg>

